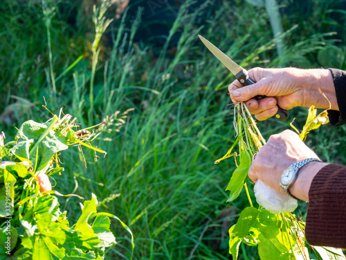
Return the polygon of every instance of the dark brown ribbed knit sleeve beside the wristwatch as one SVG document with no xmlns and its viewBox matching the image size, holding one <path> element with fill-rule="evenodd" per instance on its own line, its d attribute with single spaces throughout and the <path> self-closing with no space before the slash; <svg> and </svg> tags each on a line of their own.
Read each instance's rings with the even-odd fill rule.
<svg viewBox="0 0 346 260">
<path fill-rule="evenodd" d="M 311 245 L 346 248 L 346 166 L 328 164 L 313 178 L 305 237 Z"/>
</svg>

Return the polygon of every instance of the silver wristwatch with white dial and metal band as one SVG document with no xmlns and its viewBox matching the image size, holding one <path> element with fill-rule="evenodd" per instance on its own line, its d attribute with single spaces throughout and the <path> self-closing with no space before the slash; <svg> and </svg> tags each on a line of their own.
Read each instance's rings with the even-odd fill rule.
<svg viewBox="0 0 346 260">
<path fill-rule="evenodd" d="M 309 162 L 322 162 L 320 159 L 316 158 L 309 158 L 309 159 L 303 159 L 300 162 L 296 162 L 295 164 L 292 164 L 291 166 L 287 167 L 281 175 L 280 179 L 280 187 L 284 190 L 284 192 L 291 196 L 292 198 L 295 198 L 290 192 L 289 188 L 294 184 L 295 180 L 297 180 L 298 177 L 298 171 L 302 166 L 305 164 L 309 164 Z M 298 200 L 298 198 L 295 198 L 295 200 Z"/>
</svg>

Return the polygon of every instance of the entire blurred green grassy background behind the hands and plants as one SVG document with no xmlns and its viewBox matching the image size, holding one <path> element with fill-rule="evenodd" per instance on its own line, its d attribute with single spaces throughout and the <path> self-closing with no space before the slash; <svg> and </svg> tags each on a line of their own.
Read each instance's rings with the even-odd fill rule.
<svg viewBox="0 0 346 260">
<path fill-rule="evenodd" d="M 49 119 L 44 98 L 48 110 L 64 107 L 82 126 L 107 119 L 93 143 L 107 156 L 95 163 L 84 150 L 85 168 L 78 148 L 69 149 L 54 189 L 88 199 L 95 193 L 99 210 L 116 214 L 134 233 L 134 259 L 232 259 L 228 228 L 248 202 L 243 194 L 226 203 L 235 164 L 214 161 L 235 141 L 227 95 L 235 78 L 197 35 L 246 69 L 346 69 L 346 1 L 109 3 L 95 26 L 100 1 L 2 1 L 0 129 L 10 141 L 24 121 Z M 102 35 L 107 19 L 113 21 Z M 293 118 L 301 129 L 306 116 L 297 107 L 288 122 L 257 125 L 267 139 Z M 345 127 L 323 125 L 307 144 L 321 159 L 346 164 L 345 134 Z M 60 198 L 71 223 L 79 202 Z M 300 206 L 304 218 L 307 205 Z M 129 259 L 128 233 L 119 223 L 112 227 L 118 244 L 108 259 Z M 258 259 L 256 249 L 240 248 L 239 259 Z"/>
</svg>

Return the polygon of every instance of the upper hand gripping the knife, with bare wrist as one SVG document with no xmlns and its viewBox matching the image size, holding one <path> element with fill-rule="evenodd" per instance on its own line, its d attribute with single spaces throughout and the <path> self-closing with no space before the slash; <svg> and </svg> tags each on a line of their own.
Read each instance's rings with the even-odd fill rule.
<svg viewBox="0 0 346 260">
<path fill-rule="evenodd" d="M 228 87 L 233 103 L 246 101 L 245 104 L 256 119 L 262 121 L 277 113 L 277 105 L 284 110 L 293 107 L 329 108 L 338 110 L 333 78 L 328 69 L 262 69 L 248 71 L 248 76 L 255 80 L 254 85 L 243 87 L 238 80 Z M 327 99 L 320 94 L 327 96 Z M 260 101 L 253 97 L 264 95 Z"/>
</svg>

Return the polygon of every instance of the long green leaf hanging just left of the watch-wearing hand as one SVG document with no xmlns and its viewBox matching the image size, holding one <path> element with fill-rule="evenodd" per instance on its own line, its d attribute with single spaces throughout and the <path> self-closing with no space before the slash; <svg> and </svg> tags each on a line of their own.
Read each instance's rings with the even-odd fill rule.
<svg viewBox="0 0 346 260">
<path fill-rule="evenodd" d="M 244 183 L 248 180 L 248 169 L 251 166 L 250 151 L 244 149 L 240 153 L 240 164 L 233 172 L 230 182 L 226 188 L 226 191 L 230 191 L 230 197 L 227 202 L 233 201 L 238 198 L 240 192 L 243 189 Z"/>
</svg>

